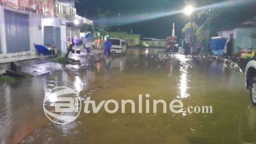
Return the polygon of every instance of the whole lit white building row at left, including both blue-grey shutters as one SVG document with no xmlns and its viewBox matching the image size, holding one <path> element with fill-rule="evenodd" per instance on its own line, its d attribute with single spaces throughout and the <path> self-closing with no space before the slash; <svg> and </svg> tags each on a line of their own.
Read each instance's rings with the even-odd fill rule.
<svg viewBox="0 0 256 144">
<path fill-rule="evenodd" d="M 0 58 L 36 54 L 34 44 L 67 52 L 67 35 L 80 33 L 75 19 L 85 24 L 74 0 L 0 0 Z"/>
</svg>

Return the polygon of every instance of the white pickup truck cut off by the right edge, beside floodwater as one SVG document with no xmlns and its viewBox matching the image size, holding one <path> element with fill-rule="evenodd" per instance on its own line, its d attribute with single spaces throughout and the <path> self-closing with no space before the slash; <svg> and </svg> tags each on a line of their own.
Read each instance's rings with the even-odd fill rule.
<svg viewBox="0 0 256 144">
<path fill-rule="evenodd" d="M 256 106 L 256 56 L 255 50 L 241 51 L 240 68 L 245 75 L 245 86 L 250 90 L 252 104 Z"/>
</svg>

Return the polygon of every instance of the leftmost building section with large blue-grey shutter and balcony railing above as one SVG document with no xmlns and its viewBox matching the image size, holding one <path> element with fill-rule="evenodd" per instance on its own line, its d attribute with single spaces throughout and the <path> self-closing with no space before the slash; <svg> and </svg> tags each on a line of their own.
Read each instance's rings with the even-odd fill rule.
<svg viewBox="0 0 256 144">
<path fill-rule="evenodd" d="M 33 44 L 43 44 L 42 19 L 54 15 L 54 1 L 0 1 L 0 57 L 33 53 Z"/>
</svg>

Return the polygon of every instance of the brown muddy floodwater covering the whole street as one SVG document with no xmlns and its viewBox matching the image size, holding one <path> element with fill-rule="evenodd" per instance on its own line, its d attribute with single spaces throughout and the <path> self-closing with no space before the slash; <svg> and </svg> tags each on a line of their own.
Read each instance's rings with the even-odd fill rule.
<svg viewBox="0 0 256 144">
<path fill-rule="evenodd" d="M 0 86 L 0 143 L 256 143 L 256 107 L 252 106 L 244 76 L 223 63 L 180 54 L 157 61 L 161 49 L 129 49 L 101 63 L 74 56 L 81 65 L 60 65 L 49 60 L 23 61 L 22 70 L 34 77 Z M 8 67 L 8 65 L 0 65 Z M 43 100 L 56 86 L 74 89 L 79 97 L 101 100 L 181 100 L 182 113 L 163 107 L 153 113 L 84 113 L 67 125 L 52 123 Z M 137 104 L 137 103 L 136 103 Z M 144 102 L 143 102 L 144 104 Z M 113 107 L 113 105 L 109 105 Z M 185 113 L 188 106 L 212 106 L 212 113 Z"/>
</svg>

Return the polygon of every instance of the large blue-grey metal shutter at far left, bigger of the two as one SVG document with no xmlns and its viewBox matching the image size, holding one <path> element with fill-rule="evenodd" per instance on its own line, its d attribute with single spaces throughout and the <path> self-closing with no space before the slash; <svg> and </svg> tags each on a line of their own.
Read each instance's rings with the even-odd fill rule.
<svg viewBox="0 0 256 144">
<path fill-rule="evenodd" d="M 24 13 L 4 10 L 7 53 L 29 51 L 29 22 Z"/>
</svg>

